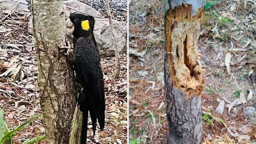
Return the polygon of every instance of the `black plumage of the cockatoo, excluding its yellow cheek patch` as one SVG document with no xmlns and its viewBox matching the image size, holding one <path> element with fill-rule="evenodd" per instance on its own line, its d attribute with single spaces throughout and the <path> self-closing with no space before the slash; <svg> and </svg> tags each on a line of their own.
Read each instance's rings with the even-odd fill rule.
<svg viewBox="0 0 256 144">
<path fill-rule="evenodd" d="M 95 135 L 97 119 L 100 130 L 105 126 L 105 93 L 103 73 L 100 66 L 99 50 L 94 38 L 94 18 L 78 13 L 70 14 L 74 23 L 73 44 L 75 48 L 76 81 L 83 90 L 78 97 L 78 105 L 83 112 L 82 143 L 86 143 L 88 111 L 91 115 L 93 134 Z M 81 21 L 89 20 L 88 31 L 81 28 Z"/>
</svg>

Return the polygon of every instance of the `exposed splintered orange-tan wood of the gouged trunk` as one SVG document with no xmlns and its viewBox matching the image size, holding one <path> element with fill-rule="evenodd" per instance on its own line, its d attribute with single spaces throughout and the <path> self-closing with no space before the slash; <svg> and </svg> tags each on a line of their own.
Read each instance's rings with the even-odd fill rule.
<svg viewBox="0 0 256 144">
<path fill-rule="evenodd" d="M 166 14 L 166 50 L 170 78 L 173 86 L 187 96 L 200 96 L 204 89 L 203 69 L 197 63 L 197 40 L 200 23 L 203 23 L 204 7 L 192 16 L 192 5 L 171 9 Z"/>
</svg>

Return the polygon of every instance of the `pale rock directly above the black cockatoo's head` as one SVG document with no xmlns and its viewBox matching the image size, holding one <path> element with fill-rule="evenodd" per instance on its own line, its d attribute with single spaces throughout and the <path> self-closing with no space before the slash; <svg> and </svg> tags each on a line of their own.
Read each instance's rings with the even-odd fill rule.
<svg viewBox="0 0 256 144">
<path fill-rule="evenodd" d="M 65 17 L 68 18 L 70 13 L 82 12 L 97 18 L 102 18 L 102 15 L 91 6 L 75 0 L 63 1 Z"/>
</svg>

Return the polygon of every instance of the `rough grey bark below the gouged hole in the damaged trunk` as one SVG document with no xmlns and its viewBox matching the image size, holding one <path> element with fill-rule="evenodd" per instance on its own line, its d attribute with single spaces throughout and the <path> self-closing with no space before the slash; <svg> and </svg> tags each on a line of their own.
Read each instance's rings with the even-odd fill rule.
<svg viewBox="0 0 256 144">
<path fill-rule="evenodd" d="M 165 67 L 168 67 L 168 64 Z M 166 112 L 169 122 L 168 144 L 202 143 L 201 96 L 189 99 L 183 91 L 172 86 L 165 68 Z"/>
</svg>

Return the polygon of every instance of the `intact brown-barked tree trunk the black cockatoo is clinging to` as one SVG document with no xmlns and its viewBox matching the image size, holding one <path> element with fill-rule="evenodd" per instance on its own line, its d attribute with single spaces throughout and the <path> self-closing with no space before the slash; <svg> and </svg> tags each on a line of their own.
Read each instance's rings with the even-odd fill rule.
<svg viewBox="0 0 256 144">
<path fill-rule="evenodd" d="M 63 1 L 32 0 L 40 105 L 48 144 L 69 142 L 75 109 L 73 71 L 64 50 L 66 23 Z"/>
</svg>

